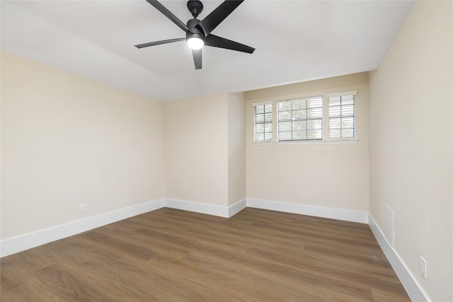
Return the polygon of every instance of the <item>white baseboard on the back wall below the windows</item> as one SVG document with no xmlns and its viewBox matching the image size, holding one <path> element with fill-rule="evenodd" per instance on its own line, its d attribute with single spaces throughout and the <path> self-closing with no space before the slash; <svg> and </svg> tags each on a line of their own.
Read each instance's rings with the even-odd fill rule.
<svg viewBox="0 0 453 302">
<path fill-rule="evenodd" d="M 352 211 L 328 207 L 316 207 L 306 204 L 293 204 L 291 202 L 275 202 L 272 200 L 248 198 L 247 207 L 284 211 L 287 213 L 303 214 L 309 216 L 338 219 L 344 221 L 368 223 L 368 213 L 365 211 Z"/>
</svg>

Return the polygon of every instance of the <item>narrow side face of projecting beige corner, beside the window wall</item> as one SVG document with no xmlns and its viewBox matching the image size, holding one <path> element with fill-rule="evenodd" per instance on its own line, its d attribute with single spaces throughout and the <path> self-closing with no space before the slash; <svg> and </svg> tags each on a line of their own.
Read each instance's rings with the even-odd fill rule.
<svg viewBox="0 0 453 302">
<path fill-rule="evenodd" d="M 246 106 L 243 93 L 228 97 L 228 205 L 246 198 Z"/>
</svg>

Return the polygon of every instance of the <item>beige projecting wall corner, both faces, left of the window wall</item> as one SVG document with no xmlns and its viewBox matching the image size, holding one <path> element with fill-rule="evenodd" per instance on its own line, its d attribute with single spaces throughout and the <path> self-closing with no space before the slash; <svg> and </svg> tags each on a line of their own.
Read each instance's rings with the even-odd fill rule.
<svg viewBox="0 0 453 302">
<path fill-rule="evenodd" d="M 242 93 L 164 103 L 166 197 L 227 207 L 246 198 Z"/>
</svg>

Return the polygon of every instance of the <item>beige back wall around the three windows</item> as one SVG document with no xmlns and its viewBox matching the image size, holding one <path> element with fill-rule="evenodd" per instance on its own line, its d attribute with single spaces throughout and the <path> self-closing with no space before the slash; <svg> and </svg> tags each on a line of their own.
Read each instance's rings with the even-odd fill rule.
<svg viewBox="0 0 453 302">
<path fill-rule="evenodd" d="M 326 93 L 353 90 L 357 144 L 253 143 L 252 103 L 323 95 L 326 109 Z M 246 150 L 248 198 L 368 211 L 368 74 L 248 91 Z"/>
</svg>

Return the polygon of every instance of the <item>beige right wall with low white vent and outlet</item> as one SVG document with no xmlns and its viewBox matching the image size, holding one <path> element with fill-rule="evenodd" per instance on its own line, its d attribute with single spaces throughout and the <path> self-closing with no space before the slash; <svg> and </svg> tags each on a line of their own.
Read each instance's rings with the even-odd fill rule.
<svg viewBox="0 0 453 302">
<path fill-rule="evenodd" d="M 418 1 L 370 75 L 370 214 L 432 301 L 453 301 L 452 1 Z M 427 261 L 427 279 L 419 272 Z"/>
</svg>

